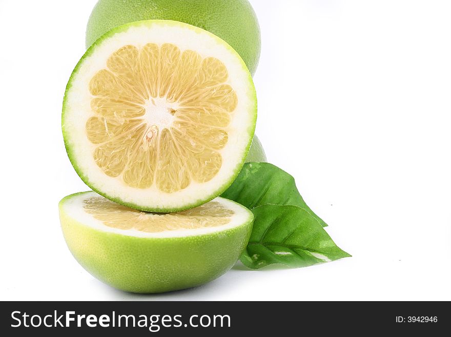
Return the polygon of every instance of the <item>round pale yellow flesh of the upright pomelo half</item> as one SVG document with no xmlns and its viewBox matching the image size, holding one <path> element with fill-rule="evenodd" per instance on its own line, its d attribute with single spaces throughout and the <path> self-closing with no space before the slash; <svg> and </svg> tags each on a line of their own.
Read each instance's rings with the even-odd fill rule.
<svg viewBox="0 0 451 337">
<path fill-rule="evenodd" d="M 95 163 L 127 186 L 166 193 L 212 180 L 238 104 L 228 78 L 217 58 L 173 44 L 120 48 L 89 84 Z"/>
</svg>

